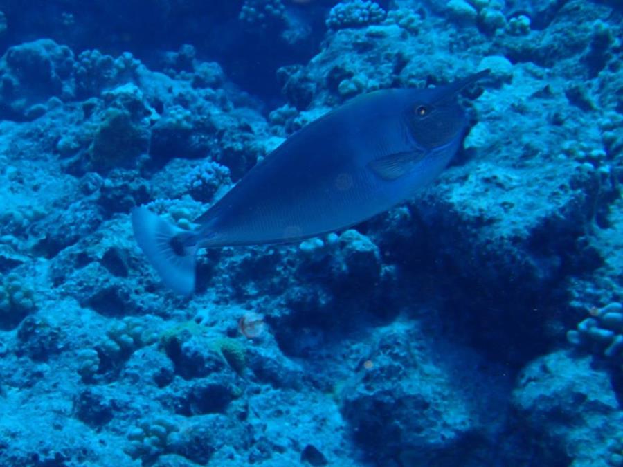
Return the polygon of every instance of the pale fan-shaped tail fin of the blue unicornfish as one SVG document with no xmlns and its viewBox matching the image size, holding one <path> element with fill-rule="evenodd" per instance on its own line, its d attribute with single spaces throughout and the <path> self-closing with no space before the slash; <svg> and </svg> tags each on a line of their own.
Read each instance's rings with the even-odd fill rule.
<svg viewBox="0 0 623 467">
<path fill-rule="evenodd" d="M 197 246 L 186 246 L 192 232 L 177 228 L 147 208 L 132 210 L 136 243 L 170 289 L 183 295 L 195 291 Z"/>
</svg>

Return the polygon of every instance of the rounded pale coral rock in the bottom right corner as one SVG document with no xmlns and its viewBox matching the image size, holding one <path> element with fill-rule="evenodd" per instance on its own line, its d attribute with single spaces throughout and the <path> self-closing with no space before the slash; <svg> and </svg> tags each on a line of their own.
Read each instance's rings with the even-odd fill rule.
<svg viewBox="0 0 623 467">
<path fill-rule="evenodd" d="M 519 376 L 512 405 L 518 423 L 547 434 L 550 445 L 537 449 L 548 463 L 621 465 L 611 433 L 618 432 L 623 412 L 608 375 L 590 368 L 588 358 L 556 352 L 530 363 Z"/>
</svg>

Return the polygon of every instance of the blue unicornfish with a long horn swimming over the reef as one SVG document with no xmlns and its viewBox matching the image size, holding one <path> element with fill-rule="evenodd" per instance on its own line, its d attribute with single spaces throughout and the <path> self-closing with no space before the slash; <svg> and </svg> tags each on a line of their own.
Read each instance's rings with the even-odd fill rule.
<svg viewBox="0 0 623 467">
<path fill-rule="evenodd" d="M 458 94 L 488 74 L 353 98 L 289 136 L 195 219 L 196 228 L 134 208 L 136 242 L 166 286 L 190 295 L 202 248 L 301 241 L 385 212 L 451 161 L 468 127 Z"/>
</svg>

